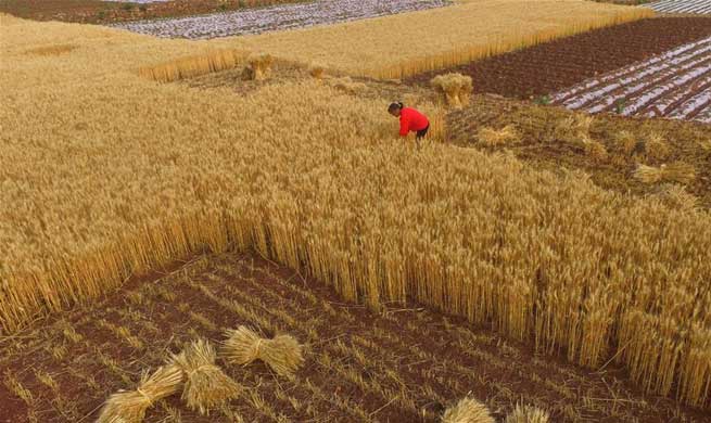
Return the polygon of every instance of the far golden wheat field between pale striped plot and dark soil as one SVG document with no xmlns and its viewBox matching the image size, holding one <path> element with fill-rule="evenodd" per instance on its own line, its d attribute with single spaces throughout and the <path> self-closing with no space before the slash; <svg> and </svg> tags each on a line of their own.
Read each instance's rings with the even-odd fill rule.
<svg viewBox="0 0 711 423">
<path fill-rule="evenodd" d="M 320 61 L 351 75 L 402 78 L 650 16 L 642 8 L 583 0 L 464 0 L 430 11 L 220 42 Z"/>
</svg>

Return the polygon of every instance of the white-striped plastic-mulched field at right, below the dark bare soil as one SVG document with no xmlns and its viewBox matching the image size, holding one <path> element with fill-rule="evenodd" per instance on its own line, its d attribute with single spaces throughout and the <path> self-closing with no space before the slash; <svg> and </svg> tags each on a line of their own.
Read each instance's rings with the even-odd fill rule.
<svg viewBox="0 0 711 423">
<path fill-rule="evenodd" d="M 625 116 L 711 123 L 711 37 L 588 79 L 553 95 L 554 104 L 589 113 L 621 107 Z"/>
</svg>

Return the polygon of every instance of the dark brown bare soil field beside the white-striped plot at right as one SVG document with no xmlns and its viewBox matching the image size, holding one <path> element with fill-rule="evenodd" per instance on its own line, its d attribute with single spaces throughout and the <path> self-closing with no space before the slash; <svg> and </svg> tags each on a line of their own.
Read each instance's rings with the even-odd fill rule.
<svg viewBox="0 0 711 423">
<path fill-rule="evenodd" d="M 483 59 L 447 72 L 470 75 L 478 93 L 535 99 L 709 36 L 711 18 L 707 17 L 643 20 Z M 426 85 L 441 73 L 444 70 L 408 81 Z"/>
</svg>

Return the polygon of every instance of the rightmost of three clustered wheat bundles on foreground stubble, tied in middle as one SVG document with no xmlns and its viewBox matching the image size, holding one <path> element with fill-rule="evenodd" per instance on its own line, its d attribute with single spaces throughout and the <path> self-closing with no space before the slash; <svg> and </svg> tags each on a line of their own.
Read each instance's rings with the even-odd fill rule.
<svg viewBox="0 0 711 423">
<path fill-rule="evenodd" d="M 246 366 L 262 360 L 281 376 L 291 376 L 304 362 L 302 346 L 290 335 L 271 339 L 261 337 L 246 326 L 228 330 L 223 356 L 230 362 Z"/>
</svg>

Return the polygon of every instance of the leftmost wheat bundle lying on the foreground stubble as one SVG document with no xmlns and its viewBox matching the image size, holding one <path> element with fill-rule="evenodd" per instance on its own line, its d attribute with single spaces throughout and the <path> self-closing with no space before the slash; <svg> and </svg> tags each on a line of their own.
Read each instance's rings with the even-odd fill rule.
<svg viewBox="0 0 711 423">
<path fill-rule="evenodd" d="M 150 376 L 143 374 L 136 390 L 118 392 L 109 397 L 97 423 L 140 423 L 155 401 L 178 392 L 182 377 L 182 371 L 176 366 L 162 367 Z"/>
</svg>

